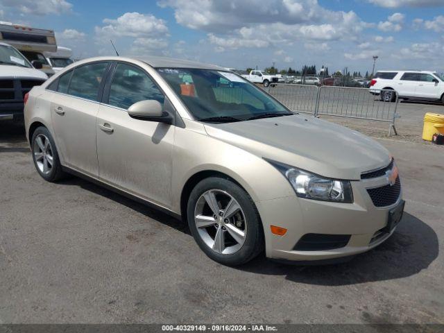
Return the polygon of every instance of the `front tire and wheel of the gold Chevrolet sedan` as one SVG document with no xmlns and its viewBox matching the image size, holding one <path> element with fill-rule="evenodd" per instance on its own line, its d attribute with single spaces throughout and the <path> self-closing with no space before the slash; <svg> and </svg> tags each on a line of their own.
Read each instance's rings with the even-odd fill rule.
<svg viewBox="0 0 444 333">
<path fill-rule="evenodd" d="M 264 250 L 264 231 L 255 204 L 231 180 L 201 180 L 189 196 L 187 219 L 200 249 L 216 262 L 238 266 Z"/>
</svg>

